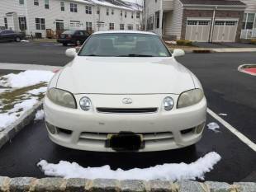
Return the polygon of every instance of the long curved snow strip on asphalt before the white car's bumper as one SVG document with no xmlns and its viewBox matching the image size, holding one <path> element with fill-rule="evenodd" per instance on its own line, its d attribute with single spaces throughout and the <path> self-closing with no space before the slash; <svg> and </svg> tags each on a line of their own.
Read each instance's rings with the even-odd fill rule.
<svg viewBox="0 0 256 192">
<path fill-rule="evenodd" d="M 128 171 L 117 169 L 111 170 L 110 166 L 83 167 L 76 162 L 60 161 L 58 164 L 48 163 L 41 160 L 37 166 L 46 176 L 60 176 L 64 178 L 87 178 L 87 179 L 116 179 L 116 180 L 196 180 L 204 179 L 204 175 L 213 169 L 221 159 L 216 152 L 209 152 L 204 157 L 190 164 L 168 163 L 152 166 L 145 169 L 134 168 Z"/>
</svg>

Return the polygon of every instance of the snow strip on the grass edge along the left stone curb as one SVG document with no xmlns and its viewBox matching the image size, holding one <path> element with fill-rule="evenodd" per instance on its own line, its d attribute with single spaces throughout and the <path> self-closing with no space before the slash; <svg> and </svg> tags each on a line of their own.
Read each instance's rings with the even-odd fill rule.
<svg viewBox="0 0 256 192">
<path fill-rule="evenodd" d="M 13 124 L 13 122 L 26 113 L 27 110 L 30 110 L 33 105 L 36 105 L 37 102 L 35 97 L 31 97 L 25 101 L 17 103 L 12 110 L 9 110 L 7 113 L 0 114 L 0 129 L 6 129 L 7 126 Z"/>
</svg>

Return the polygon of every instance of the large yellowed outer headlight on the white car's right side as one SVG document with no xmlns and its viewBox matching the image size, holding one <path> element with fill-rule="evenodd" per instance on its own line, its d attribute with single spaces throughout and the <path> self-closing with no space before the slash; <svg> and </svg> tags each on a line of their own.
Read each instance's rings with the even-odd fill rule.
<svg viewBox="0 0 256 192">
<path fill-rule="evenodd" d="M 201 89 L 193 89 L 190 91 L 183 92 L 178 97 L 177 108 L 183 108 L 197 104 L 203 98 L 204 94 Z"/>
</svg>

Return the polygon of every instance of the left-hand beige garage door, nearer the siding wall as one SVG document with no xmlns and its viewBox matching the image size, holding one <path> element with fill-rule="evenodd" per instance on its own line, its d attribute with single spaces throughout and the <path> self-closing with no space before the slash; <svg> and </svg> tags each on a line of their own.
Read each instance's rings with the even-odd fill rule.
<svg viewBox="0 0 256 192">
<path fill-rule="evenodd" d="M 210 35 L 210 21 L 187 20 L 186 40 L 206 42 Z"/>
</svg>

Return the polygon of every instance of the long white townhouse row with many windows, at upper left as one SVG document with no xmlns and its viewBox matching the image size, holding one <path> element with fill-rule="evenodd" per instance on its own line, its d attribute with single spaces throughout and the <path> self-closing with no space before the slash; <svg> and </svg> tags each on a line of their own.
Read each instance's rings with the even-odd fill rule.
<svg viewBox="0 0 256 192">
<path fill-rule="evenodd" d="M 46 30 L 140 30 L 142 7 L 121 0 L 1 0 L 0 29 L 45 37 Z"/>
</svg>

